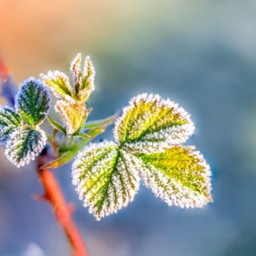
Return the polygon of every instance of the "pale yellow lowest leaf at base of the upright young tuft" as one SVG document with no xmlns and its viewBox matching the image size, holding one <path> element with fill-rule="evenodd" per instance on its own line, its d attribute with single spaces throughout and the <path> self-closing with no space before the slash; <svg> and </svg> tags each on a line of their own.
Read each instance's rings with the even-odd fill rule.
<svg viewBox="0 0 256 256">
<path fill-rule="evenodd" d="M 55 109 L 63 118 L 68 134 L 73 134 L 80 128 L 83 117 L 87 114 L 84 102 L 71 103 L 58 100 Z"/>
</svg>

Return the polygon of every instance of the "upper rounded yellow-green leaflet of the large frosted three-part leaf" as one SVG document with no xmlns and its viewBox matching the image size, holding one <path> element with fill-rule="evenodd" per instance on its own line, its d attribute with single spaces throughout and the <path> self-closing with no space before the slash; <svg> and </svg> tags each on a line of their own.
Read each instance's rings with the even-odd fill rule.
<svg viewBox="0 0 256 256">
<path fill-rule="evenodd" d="M 142 94 L 124 107 L 114 137 L 127 149 L 146 153 L 182 144 L 193 131 L 193 122 L 183 108 L 159 95 Z"/>
</svg>

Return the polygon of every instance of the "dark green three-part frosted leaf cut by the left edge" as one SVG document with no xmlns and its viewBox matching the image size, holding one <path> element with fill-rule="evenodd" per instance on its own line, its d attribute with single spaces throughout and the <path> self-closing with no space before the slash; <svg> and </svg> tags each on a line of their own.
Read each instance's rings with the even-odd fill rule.
<svg viewBox="0 0 256 256">
<path fill-rule="evenodd" d="M 17 167 L 35 159 L 46 146 L 46 133 L 38 126 L 50 110 L 50 92 L 41 80 L 28 78 L 19 88 L 15 110 L 0 108 L 0 144 Z"/>
</svg>

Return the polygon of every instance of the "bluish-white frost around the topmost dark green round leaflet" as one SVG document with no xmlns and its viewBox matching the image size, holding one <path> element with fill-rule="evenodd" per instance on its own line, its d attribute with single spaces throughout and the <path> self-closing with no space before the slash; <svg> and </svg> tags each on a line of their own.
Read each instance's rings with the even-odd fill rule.
<svg viewBox="0 0 256 256">
<path fill-rule="evenodd" d="M 38 97 L 37 102 L 33 102 L 33 104 L 36 104 L 39 107 L 41 105 L 41 103 L 43 102 L 43 96 L 46 95 L 47 109 L 43 110 L 43 112 L 45 114 L 48 114 L 48 112 L 50 111 L 50 102 L 51 102 L 50 90 L 48 87 L 43 85 L 43 82 L 41 80 L 38 80 L 33 77 L 24 80 L 19 87 L 18 93 L 15 95 L 15 110 L 16 110 L 16 112 L 21 113 L 21 110 L 23 110 L 27 114 L 32 114 L 32 112 L 31 112 L 32 110 L 31 110 L 28 102 L 31 102 L 31 100 L 34 100 L 34 99 L 28 98 L 28 96 L 25 93 L 25 91 L 26 91 L 25 87 L 28 86 L 30 83 L 33 83 L 34 95 L 36 95 L 38 93 L 38 90 L 42 90 L 41 95 Z M 34 106 L 34 107 L 37 107 L 37 106 Z"/>
</svg>

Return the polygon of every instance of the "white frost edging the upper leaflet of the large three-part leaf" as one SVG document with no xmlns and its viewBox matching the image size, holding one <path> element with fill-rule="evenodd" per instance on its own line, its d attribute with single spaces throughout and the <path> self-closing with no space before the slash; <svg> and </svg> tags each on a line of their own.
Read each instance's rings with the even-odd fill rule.
<svg viewBox="0 0 256 256">
<path fill-rule="evenodd" d="M 153 94 L 141 94 L 137 97 L 133 97 L 132 100 L 129 102 L 128 107 L 123 108 L 123 114 L 122 117 L 119 117 L 117 121 L 114 124 L 114 138 L 116 142 L 119 142 L 119 129 L 125 129 L 124 127 L 121 127 L 121 122 L 124 120 L 124 118 L 127 116 L 127 114 L 135 109 L 140 102 L 155 102 L 154 106 L 159 109 L 164 110 L 171 110 L 171 114 L 178 114 L 179 119 L 186 121 L 186 124 L 175 124 L 171 127 L 160 129 L 157 132 L 151 132 L 144 134 L 142 137 L 140 137 L 137 141 L 134 142 L 126 142 L 124 144 L 125 147 L 132 149 L 134 152 L 139 152 L 142 150 L 142 152 L 156 152 L 156 151 L 162 151 L 164 147 L 171 147 L 178 144 L 182 144 L 186 142 L 188 137 L 191 137 L 191 135 L 194 132 L 195 126 L 193 122 L 190 119 L 190 115 L 183 110 L 182 107 L 178 107 L 178 104 L 171 102 L 171 100 L 163 100 L 159 95 L 153 95 Z M 137 129 L 137 127 L 143 127 L 143 124 L 145 122 L 149 122 L 151 119 L 151 113 L 145 112 L 142 117 L 139 117 L 136 122 L 134 122 L 133 127 L 134 130 Z M 162 121 L 168 121 L 168 117 L 161 117 Z M 171 121 L 170 121 L 171 122 Z M 154 124 L 156 125 L 156 124 Z M 130 131 L 129 131 L 130 132 Z M 156 142 L 157 141 L 157 142 Z M 147 148 L 148 147 L 148 148 Z"/>
</svg>

